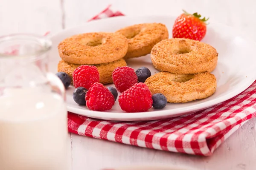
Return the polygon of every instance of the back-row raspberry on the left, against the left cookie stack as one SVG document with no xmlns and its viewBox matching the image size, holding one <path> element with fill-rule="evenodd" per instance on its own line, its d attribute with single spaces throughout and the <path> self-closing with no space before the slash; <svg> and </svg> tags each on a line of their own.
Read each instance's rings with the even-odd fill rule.
<svg viewBox="0 0 256 170">
<path fill-rule="evenodd" d="M 99 82 L 99 71 L 94 65 L 81 65 L 76 68 L 72 76 L 75 88 L 89 89 L 93 83 Z"/>
</svg>

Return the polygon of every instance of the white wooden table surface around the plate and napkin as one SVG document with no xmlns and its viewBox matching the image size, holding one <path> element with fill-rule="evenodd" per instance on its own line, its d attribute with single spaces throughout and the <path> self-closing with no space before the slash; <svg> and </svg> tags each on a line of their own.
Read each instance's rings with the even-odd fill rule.
<svg viewBox="0 0 256 170">
<path fill-rule="evenodd" d="M 199 12 L 209 21 L 233 26 L 256 39 L 255 0 L 1 0 L 0 35 L 55 34 L 78 26 L 108 4 L 127 15 Z M 255 170 L 256 119 L 237 130 L 210 157 L 169 153 L 70 134 L 73 170 L 132 164 L 185 165 L 199 170 Z"/>
</svg>

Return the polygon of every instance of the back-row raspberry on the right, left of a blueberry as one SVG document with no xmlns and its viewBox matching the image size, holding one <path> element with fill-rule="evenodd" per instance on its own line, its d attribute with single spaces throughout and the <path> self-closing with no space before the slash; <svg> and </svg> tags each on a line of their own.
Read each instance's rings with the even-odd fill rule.
<svg viewBox="0 0 256 170">
<path fill-rule="evenodd" d="M 112 73 L 113 83 L 119 92 L 123 92 L 131 88 L 138 82 L 138 77 L 131 67 L 117 67 Z"/>
</svg>

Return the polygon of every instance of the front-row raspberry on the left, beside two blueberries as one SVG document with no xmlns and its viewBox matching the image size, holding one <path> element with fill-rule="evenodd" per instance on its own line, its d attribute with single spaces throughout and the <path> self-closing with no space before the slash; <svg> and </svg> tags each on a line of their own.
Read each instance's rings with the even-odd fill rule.
<svg viewBox="0 0 256 170">
<path fill-rule="evenodd" d="M 86 106 L 93 111 L 107 111 L 115 104 L 113 94 L 99 82 L 91 85 L 85 95 Z"/>
</svg>

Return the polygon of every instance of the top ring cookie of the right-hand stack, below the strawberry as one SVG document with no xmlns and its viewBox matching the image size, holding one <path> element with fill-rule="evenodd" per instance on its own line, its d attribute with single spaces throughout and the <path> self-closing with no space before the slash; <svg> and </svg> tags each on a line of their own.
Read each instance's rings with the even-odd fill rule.
<svg viewBox="0 0 256 170">
<path fill-rule="evenodd" d="M 172 38 L 154 45 L 151 61 L 159 71 L 196 74 L 212 72 L 217 65 L 218 53 L 215 48 L 204 42 Z"/>
</svg>

